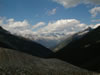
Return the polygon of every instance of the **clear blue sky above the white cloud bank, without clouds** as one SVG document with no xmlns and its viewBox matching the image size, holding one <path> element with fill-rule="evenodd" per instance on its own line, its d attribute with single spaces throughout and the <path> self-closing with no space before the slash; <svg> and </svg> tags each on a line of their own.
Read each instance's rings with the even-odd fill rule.
<svg viewBox="0 0 100 75">
<path fill-rule="evenodd" d="M 99 5 L 98 5 L 99 6 Z M 14 18 L 15 20 L 28 20 L 30 24 L 59 19 L 78 19 L 83 23 L 91 24 L 91 4 L 79 4 L 75 7 L 65 8 L 53 0 L 0 0 L 0 17 Z M 48 12 L 56 9 L 55 14 Z M 96 19 L 100 18 L 100 15 Z"/>
</svg>

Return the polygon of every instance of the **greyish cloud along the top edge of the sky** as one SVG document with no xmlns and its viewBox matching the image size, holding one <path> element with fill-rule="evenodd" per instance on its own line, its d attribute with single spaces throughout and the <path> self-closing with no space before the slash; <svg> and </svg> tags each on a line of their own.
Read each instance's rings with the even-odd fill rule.
<svg viewBox="0 0 100 75">
<path fill-rule="evenodd" d="M 53 0 L 54 2 L 61 4 L 65 8 L 71 8 L 75 7 L 81 3 L 83 4 L 93 4 L 93 5 L 99 5 L 100 0 Z"/>
</svg>

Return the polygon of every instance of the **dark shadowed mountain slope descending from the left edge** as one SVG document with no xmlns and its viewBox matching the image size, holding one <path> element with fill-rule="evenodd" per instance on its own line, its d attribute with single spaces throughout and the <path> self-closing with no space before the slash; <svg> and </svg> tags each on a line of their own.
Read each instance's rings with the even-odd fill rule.
<svg viewBox="0 0 100 75">
<path fill-rule="evenodd" d="M 43 58 L 48 58 L 53 54 L 48 48 L 32 40 L 12 35 L 2 27 L 0 27 L 0 47 L 18 50 Z"/>
</svg>

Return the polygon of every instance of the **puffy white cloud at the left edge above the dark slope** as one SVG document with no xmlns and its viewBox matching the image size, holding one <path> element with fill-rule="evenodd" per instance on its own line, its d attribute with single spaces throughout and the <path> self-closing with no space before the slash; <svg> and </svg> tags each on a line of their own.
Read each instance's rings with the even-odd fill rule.
<svg viewBox="0 0 100 75">
<path fill-rule="evenodd" d="M 27 20 L 24 21 L 15 21 L 14 19 L 0 19 L 0 26 L 4 27 L 6 30 L 11 33 L 21 33 L 24 30 L 30 28 L 30 24 Z M 30 29 L 29 29 L 30 30 Z"/>
</svg>

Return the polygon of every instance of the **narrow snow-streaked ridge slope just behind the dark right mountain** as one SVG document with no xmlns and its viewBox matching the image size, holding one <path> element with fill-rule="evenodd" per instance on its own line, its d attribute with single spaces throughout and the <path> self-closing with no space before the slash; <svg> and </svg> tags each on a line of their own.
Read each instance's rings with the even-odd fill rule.
<svg viewBox="0 0 100 75">
<path fill-rule="evenodd" d="M 69 37 L 67 37 L 65 40 L 63 40 L 61 43 L 59 43 L 57 46 L 55 46 L 53 48 L 54 52 L 59 51 L 60 49 L 62 49 L 63 47 L 67 46 L 70 42 L 78 40 L 80 38 L 82 38 L 83 36 L 85 36 L 86 34 L 88 34 L 90 31 L 92 31 L 93 29 L 91 27 L 88 27 L 87 29 L 80 31 L 78 33 L 75 33 L 73 35 L 70 35 Z"/>
</svg>

